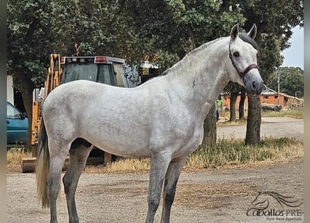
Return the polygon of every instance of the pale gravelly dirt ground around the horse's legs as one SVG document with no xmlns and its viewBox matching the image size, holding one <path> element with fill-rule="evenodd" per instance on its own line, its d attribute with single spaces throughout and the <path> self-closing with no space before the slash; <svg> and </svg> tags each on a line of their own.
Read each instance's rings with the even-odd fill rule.
<svg viewBox="0 0 310 223">
<path fill-rule="evenodd" d="M 284 119 L 277 123 L 286 125 Z M 287 131 L 295 131 L 292 122 L 287 126 L 290 126 Z M 284 126 L 278 125 L 276 130 L 282 137 L 280 132 L 284 132 Z M 303 137 L 303 121 L 302 133 L 296 135 Z M 303 160 L 296 160 L 191 173 L 183 171 L 171 222 L 303 222 L 303 164 Z M 148 173 L 89 174 L 86 168 L 76 194 L 80 222 L 144 222 L 147 192 Z M 267 197 L 269 206 L 262 216 L 254 216 L 253 212 L 247 215 L 248 210 L 255 207 L 251 202 L 258 192 L 277 192 L 293 197 L 299 204 L 290 208 Z M 155 222 L 160 222 L 161 208 L 157 210 Z M 284 216 L 275 216 L 277 211 L 283 211 Z M 59 222 L 68 222 L 63 187 L 58 199 L 58 217 Z M 49 210 L 41 209 L 36 199 L 35 174 L 7 174 L 6 222 L 49 222 Z"/>
</svg>

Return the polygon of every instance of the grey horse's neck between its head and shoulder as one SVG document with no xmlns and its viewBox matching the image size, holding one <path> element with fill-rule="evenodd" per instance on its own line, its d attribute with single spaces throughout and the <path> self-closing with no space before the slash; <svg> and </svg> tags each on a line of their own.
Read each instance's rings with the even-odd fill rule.
<svg viewBox="0 0 310 223">
<path fill-rule="evenodd" d="M 208 112 L 229 81 L 226 73 L 228 38 L 207 44 L 183 60 L 167 75 L 171 91 L 188 100 L 193 109 Z"/>
</svg>

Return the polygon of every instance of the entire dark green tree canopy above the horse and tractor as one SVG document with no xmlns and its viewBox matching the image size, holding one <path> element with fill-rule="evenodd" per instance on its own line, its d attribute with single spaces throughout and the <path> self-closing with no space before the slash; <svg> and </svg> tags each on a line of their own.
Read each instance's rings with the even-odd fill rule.
<svg viewBox="0 0 310 223">
<path fill-rule="evenodd" d="M 258 25 L 264 75 L 281 64 L 279 50 L 288 46 L 291 27 L 303 25 L 302 1 L 10 0 L 8 73 L 26 76 L 31 88 L 40 85 L 52 52 L 107 54 L 130 62 L 158 54 L 166 69 L 194 47 L 228 36 L 237 22 L 247 29 Z"/>
</svg>

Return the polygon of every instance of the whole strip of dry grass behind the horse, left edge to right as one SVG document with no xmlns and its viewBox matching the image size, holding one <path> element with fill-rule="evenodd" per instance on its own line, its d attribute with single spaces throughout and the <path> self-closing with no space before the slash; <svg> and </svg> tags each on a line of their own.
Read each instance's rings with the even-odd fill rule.
<svg viewBox="0 0 310 223">
<path fill-rule="evenodd" d="M 7 152 L 7 171 L 20 172 L 22 157 L 31 157 L 31 153 L 12 149 Z M 222 138 L 216 146 L 199 148 L 187 157 L 185 171 L 197 171 L 205 168 L 257 165 L 265 162 L 290 162 L 304 157 L 304 145 L 297 139 L 287 137 L 263 138 L 261 145 L 245 146 L 242 139 Z M 150 169 L 149 158 L 125 158 L 108 164 L 107 167 L 87 166 L 88 173 L 130 173 L 144 172 Z"/>
</svg>

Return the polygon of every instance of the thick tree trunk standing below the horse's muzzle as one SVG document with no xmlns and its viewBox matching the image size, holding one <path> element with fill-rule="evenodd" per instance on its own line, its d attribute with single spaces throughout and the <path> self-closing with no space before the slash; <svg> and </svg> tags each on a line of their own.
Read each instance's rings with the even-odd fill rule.
<svg viewBox="0 0 310 223">
<path fill-rule="evenodd" d="M 249 111 L 247 114 L 246 145 L 257 145 L 261 142 L 261 100 L 248 95 Z"/>
</svg>

